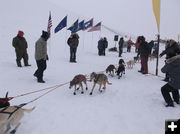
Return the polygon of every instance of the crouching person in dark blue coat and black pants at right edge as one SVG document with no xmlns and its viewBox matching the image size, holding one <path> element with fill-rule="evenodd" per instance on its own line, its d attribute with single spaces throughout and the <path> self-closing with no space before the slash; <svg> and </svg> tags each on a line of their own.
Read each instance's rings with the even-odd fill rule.
<svg viewBox="0 0 180 134">
<path fill-rule="evenodd" d="M 179 103 L 180 89 L 180 55 L 171 57 L 166 60 L 166 64 L 161 69 L 163 73 L 169 74 L 169 81 L 161 88 L 161 93 L 166 101 L 166 107 L 174 107 L 173 100 Z M 169 93 L 172 93 L 173 100 Z"/>
</svg>

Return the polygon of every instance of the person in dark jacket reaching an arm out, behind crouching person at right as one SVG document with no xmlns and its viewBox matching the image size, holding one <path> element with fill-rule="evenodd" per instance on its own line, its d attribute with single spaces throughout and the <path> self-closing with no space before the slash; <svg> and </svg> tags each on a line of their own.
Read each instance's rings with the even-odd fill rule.
<svg viewBox="0 0 180 134">
<path fill-rule="evenodd" d="M 166 59 L 176 56 L 177 54 L 180 54 L 180 48 L 176 41 L 174 40 L 167 41 L 166 49 L 162 51 L 162 53 L 159 56 L 162 57 L 165 54 L 166 54 Z M 167 82 L 168 80 L 169 80 L 169 76 L 168 73 L 166 73 L 164 81 Z"/>
</svg>

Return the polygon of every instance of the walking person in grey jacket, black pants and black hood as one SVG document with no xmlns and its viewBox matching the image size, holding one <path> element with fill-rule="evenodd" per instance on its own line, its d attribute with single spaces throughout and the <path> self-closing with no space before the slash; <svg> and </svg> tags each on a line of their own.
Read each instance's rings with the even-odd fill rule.
<svg viewBox="0 0 180 134">
<path fill-rule="evenodd" d="M 48 60 L 47 55 L 47 40 L 49 38 L 49 33 L 42 31 L 41 37 L 36 41 L 35 44 L 35 60 L 37 64 L 37 70 L 34 76 L 37 77 L 37 82 L 45 83 L 43 80 L 43 73 L 46 70 L 46 60 Z"/>
</svg>

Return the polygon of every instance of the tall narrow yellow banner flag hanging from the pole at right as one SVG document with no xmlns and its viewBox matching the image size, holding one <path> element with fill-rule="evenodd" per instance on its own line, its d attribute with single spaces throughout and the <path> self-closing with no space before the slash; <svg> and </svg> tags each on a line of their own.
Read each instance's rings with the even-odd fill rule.
<svg viewBox="0 0 180 134">
<path fill-rule="evenodd" d="M 156 18 L 158 33 L 160 32 L 160 0 L 152 0 L 153 12 Z"/>
</svg>

